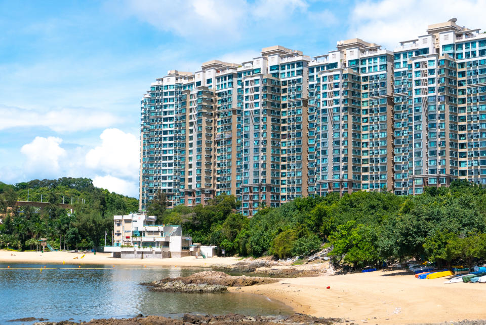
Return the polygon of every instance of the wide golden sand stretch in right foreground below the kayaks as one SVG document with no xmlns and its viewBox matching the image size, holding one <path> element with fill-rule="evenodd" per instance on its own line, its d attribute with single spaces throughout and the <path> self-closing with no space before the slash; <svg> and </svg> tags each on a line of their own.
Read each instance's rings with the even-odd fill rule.
<svg viewBox="0 0 486 325">
<path fill-rule="evenodd" d="M 360 324 L 486 319 L 486 284 L 443 284 L 446 279 L 417 279 L 402 271 L 376 271 L 287 278 L 229 290 L 265 295 L 304 314 Z"/>
</svg>

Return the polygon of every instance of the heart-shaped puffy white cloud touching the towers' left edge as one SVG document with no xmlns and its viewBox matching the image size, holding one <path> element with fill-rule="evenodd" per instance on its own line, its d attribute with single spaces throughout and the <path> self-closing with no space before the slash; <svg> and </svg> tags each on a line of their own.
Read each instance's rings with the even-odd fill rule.
<svg viewBox="0 0 486 325">
<path fill-rule="evenodd" d="M 138 178 L 140 141 L 130 133 L 106 129 L 101 133 L 101 146 L 88 152 L 86 166 L 115 176 Z"/>
</svg>

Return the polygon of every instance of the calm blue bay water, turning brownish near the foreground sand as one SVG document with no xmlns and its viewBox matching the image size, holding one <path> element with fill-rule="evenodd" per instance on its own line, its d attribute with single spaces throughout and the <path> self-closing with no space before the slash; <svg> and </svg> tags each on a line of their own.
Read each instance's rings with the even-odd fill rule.
<svg viewBox="0 0 486 325">
<path fill-rule="evenodd" d="M 199 271 L 201 269 L 0 263 L 0 302 L 3 304 L 0 325 L 27 324 L 6 323 L 6 320 L 22 317 L 88 321 L 133 317 L 139 313 L 177 318 L 183 313 L 278 315 L 292 312 L 289 307 L 258 295 L 161 293 L 150 292 L 139 285 Z"/>
</svg>

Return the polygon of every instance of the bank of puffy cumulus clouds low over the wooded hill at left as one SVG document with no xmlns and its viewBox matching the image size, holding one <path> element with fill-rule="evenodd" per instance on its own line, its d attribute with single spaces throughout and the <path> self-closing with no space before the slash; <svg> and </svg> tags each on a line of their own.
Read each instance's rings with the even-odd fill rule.
<svg viewBox="0 0 486 325">
<path fill-rule="evenodd" d="M 138 197 L 139 140 L 119 129 L 105 129 L 100 139 L 96 147 L 73 147 L 60 137 L 37 136 L 20 150 L 24 165 L 2 168 L 0 179 L 20 182 L 35 178 L 89 177 L 95 186 Z"/>
</svg>

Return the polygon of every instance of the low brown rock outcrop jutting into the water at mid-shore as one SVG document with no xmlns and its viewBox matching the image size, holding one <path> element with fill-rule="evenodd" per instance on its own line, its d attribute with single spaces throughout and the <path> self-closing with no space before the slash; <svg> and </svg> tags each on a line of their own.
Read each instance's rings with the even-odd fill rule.
<svg viewBox="0 0 486 325">
<path fill-rule="evenodd" d="M 223 272 L 204 271 L 185 277 L 169 277 L 142 284 L 147 285 L 151 291 L 212 293 L 226 291 L 228 286 L 248 286 L 277 281 L 277 279 L 258 276 L 231 276 Z"/>
</svg>

